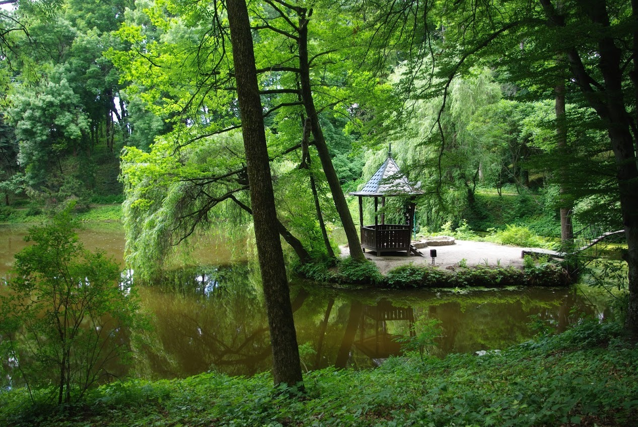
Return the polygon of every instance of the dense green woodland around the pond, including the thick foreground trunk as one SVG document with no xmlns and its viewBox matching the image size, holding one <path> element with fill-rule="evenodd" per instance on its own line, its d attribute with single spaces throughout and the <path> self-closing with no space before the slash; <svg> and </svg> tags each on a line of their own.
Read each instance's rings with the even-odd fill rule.
<svg viewBox="0 0 638 427">
<path fill-rule="evenodd" d="M 277 384 L 301 380 L 284 251 L 332 265 L 338 227 L 364 262 L 345 195 L 390 144 L 424 232 L 502 214 L 568 251 L 579 228 L 625 230 L 638 335 L 635 1 L 0 5 L 0 220 L 121 203 L 144 279 L 253 227 Z"/>
</svg>

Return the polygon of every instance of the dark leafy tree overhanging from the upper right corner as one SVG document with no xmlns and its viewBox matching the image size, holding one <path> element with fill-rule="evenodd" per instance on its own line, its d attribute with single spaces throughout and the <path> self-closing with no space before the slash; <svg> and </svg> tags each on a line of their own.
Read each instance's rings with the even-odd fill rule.
<svg viewBox="0 0 638 427">
<path fill-rule="evenodd" d="M 616 192 L 628 244 L 626 327 L 638 336 L 638 3 L 586 0 L 561 1 L 561 6 L 559 11 L 551 0 L 461 0 L 448 8 L 445 1 L 424 4 L 416 0 L 380 8 L 380 15 L 397 17 L 403 26 L 386 30 L 383 20 L 378 20 L 376 27 L 382 35 L 394 30 L 392 40 L 408 35 L 403 37 L 407 39 L 403 46 L 408 46 L 412 56 L 410 71 L 440 79 L 431 80 L 425 92 L 443 95 L 441 112 L 454 78 L 477 64 L 498 66 L 510 81 L 551 93 L 556 76 L 563 75 L 556 54 L 564 55 L 570 74 L 566 96 L 595 111 L 607 131 L 607 149 L 614 154 Z M 417 11 L 426 14 L 425 32 L 413 29 Z M 434 73 L 422 68 L 424 57 L 439 64 Z M 443 135 L 441 129 L 438 126 Z"/>
</svg>

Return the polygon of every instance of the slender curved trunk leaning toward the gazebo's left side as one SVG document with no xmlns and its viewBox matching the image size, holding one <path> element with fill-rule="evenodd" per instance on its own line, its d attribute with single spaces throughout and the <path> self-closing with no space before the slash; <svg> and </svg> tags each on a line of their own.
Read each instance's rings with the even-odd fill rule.
<svg viewBox="0 0 638 427">
<path fill-rule="evenodd" d="M 366 257 L 361 249 L 361 243 L 359 241 L 359 234 L 357 234 L 357 228 L 352 221 L 352 215 L 350 209 L 348 209 L 348 203 L 343 195 L 341 189 L 341 183 L 339 183 L 339 177 L 332 165 L 332 159 L 328 151 L 328 146 L 323 137 L 323 131 L 319 124 L 319 116 L 315 109 L 315 101 L 313 100 L 313 93 L 310 82 L 310 68 L 308 59 L 308 19 L 306 19 L 305 11 L 302 10 L 299 18 L 299 39 L 297 40 L 299 46 L 299 80 L 301 84 L 301 98 L 304 103 L 304 109 L 306 110 L 306 116 L 311 121 L 311 129 L 313 138 L 315 139 L 315 147 L 319 153 L 319 160 L 321 161 L 323 172 L 330 186 L 330 192 L 332 193 L 332 199 L 334 200 L 334 206 L 337 208 L 339 218 L 343 224 L 343 230 L 346 233 L 348 239 L 348 246 L 350 246 L 350 257 L 355 260 L 364 261 Z"/>
</svg>

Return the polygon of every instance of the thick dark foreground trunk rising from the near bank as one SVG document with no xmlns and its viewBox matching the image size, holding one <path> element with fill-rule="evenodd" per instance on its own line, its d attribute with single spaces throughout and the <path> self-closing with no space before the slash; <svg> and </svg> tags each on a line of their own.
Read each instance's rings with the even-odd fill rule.
<svg viewBox="0 0 638 427">
<path fill-rule="evenodd" d="M 250 21 L 245 0 L 227 0 L 226 7 L 246 150 L 255 241 L 271 332 L 272 375 L 275 384 L 285 383 L 293 386 L 302 381 L 302 373 L 283 252 L 278 230 L 274 227 L 277 213 Z"/>
</svg>

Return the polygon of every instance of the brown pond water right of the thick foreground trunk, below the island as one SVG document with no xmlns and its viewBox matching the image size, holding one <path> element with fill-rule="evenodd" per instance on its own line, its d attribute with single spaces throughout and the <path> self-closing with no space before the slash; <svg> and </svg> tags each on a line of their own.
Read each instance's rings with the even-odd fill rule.
<svg viewBox="0 0 638 427">
<path fill-rule="evenodd" d="M 413 317 L 441 320 L 444 336 L 436 340 L 438 348 L 435 352 L 444 356 L 450 352 L 507 348 L 528 340 L 533 335 L 527 326 L 530 315 L 539 315 L 560 329 L 577 319 L 569 316 L 574 308 L 590 313 L 591 308 L 583 310 L 587 307 L 583 305 L 582 298 L 575 297 L 573 292 L 565 296 L 560 292 L 526 288 L 461 295 L 433 292 L 384 293 L 383 296 L 369 292 L 350 297 L 345 294 L 340 297 L 335 297 L 335 294 L 313 295 L 297 313 L 296 324 L 303 336 L 299 341 L 315 343 L 318 353 L 315 368 L 327 366 L 330 360 L 338 367 L 370 367 L 375 366 L 371 357 L 383 358 L 396 353 L 396 348 L 390 348 L 396 345 L 392 336 L 410 333 L 410 322 L 404 324 L 400 317 L 395 319 L 399 321 L 389 317 L 385 320 L 378 316 L 374 318 L 373 311 L 379 315 L 392 310 L 404 310 L 406 313 L 413 310 Z M 387 301 L 384 301 L 386 297 Z M 336 315 L 334 306 L 338 307 Z M 401 306 L 407 308 L 401 309 Z M 366 317 L 367 321 L 362 322 Z M 315 322 L 311 322 L 310 318 Z M 385 356 L 382 351 L 373 354 L 369 347 L 364 348 L 364 341 L 370 340 L 371 335 L 375 340 L 368 343 L 379 347 L 373 350 L 383 350 Z"/>
</svg>

